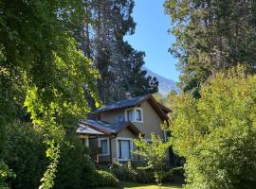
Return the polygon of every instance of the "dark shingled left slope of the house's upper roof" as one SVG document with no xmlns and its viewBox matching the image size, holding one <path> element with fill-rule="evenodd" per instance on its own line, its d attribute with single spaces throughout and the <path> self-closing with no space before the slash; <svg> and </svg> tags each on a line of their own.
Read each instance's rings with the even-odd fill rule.
<svg viewBox="0 0 256 189">
<path fill-rule="evenodd" d="M 149 96 L 151 96 L 151 94 L 130 97 L 130 98 L 118 101 L 118 102 L 109 103 L 109 104 L 103 105 L 100 109 L 97 109 L 93 113 L 107 112 L 107 111 L 113 111 L 116 109 L 133 107 L 133 106 L 136 106 L 139 102 L 145 100 Z"/>
</svg>

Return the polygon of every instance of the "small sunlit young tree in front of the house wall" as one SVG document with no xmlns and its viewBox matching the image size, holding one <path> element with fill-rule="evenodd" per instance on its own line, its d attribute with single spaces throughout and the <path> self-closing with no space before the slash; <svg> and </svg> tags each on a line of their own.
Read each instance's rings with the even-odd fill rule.
<svg viewBox="0 0 256 189">
<path fill-rule="evenodd" d="M 144 140 L 142 136 L 135 139 L 135 145 L 137 150 L 133 153 L 141 156 L 147 163 L 145 169 L 152 168 L 155 174 L 155 181 L 157 184 L 161 184 L 164 177 L 164 160 L 166 158 L 166 152 L 171 146 L 170 142 L 163 142 L 159 136 L 155 136 L 154 133 L 151 134 L 152 143 L 148 143 Z"/>
</svg>

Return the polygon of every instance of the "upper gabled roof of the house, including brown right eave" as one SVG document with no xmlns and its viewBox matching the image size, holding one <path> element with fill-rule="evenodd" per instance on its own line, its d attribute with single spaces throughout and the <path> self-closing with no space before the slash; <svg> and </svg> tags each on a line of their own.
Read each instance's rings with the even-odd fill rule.
<svg viewBox="0 0 256 189">
<path fill-rule="evenodd" d="M 135 107 L 140 105 L 142 102 L 146 100 L 149 101 L 149 103 L 155 109 L 155 112 L 157 112 L 159 116 L 163 119 L 167 118 L 166 114 L 168 112 L 172 112 L 172 110 L 170 110 L 169 108 L 158 103 L 152 94 L 145 94 L 145 95 L 139 95 L 136 97 L 130 97 L 118 102 L 108 103 L 106 105 L 103 105 L 100 109 L 97 109 L 95 112 L 92 112 L 92 113 L 109 112 L 109 111 L 129 108 L 129 107 Z"/>
</svg>

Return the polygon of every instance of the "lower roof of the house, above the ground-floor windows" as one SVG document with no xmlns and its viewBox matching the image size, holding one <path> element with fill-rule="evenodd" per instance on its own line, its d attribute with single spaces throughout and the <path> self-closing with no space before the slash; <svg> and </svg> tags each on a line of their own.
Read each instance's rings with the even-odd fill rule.
<svg viewBox="0 0 256 189">
<path fill-rule="evenodd" d="M 137 127 L 134 124 L 132 124 L 129 121 L 110 124 L 102 121 L 86 119 L 80 120 L 80 124 L 85 127 L 98 130 L 105 135 L 118 134 L 122 129 L 125 128 L 129 129 L 136 136 L 139 133 L 144 135 L 139 129 L 137 129 Z"/>
</svg>

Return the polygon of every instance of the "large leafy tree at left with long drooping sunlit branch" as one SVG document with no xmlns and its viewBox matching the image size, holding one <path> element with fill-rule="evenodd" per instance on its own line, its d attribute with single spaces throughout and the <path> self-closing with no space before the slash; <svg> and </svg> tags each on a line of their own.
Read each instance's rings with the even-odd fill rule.
<svg viewBox="0 0 256 189">
<path fill-rule="evenodd" d="M 64 135 L 90 111 L 83 85 L 97 97 L 97 70 L 78 50 L 67 25 L 79 2 L 0 2 L 0 157 L 6 127 L 25 107 L 29 122 L 44 132 L 51 160 L 41 188 L 53 187 Z"/>
</svg>

